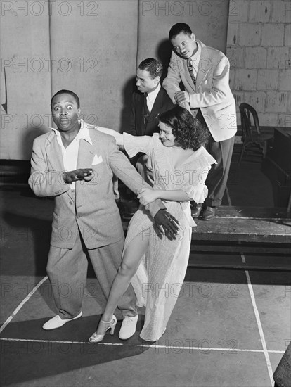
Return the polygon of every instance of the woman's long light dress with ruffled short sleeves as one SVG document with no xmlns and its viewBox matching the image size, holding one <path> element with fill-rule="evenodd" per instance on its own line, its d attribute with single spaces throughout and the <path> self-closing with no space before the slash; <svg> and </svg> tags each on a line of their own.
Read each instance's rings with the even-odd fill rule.
<svg viewBox="0 0 291 387">
<path fill-rule="evenodd" d="M 124 133 L 124 148 L 129 157 L 138 152 L 147 154 L 148 167 L 153 170 L 155 184 L 153 189 L 186 191 L 196 203 L 207 197 L 205 179 L 214 158 L 205 148 L 187 153 L 183 163 L 174 168 L 173 148 L 162 145 L 158 134 L 153 137 L 134 137 Z M 129 222 L 124 250 L 139 236 L 150 236 L 148 252 L 143 256 L 141 265 L 131 284 L 136 292 L 137 304 L 145 306 L 145 324 L 141 338 L 156 341 L 164 333 L 186 274 L 192 227 L 196 226 L 188 202 L 163 201 L 170 212 L 179 220 L 179 235 L 174 241 L 166 236 L 159 238 L 155 232 L 153 219 L 141 205 Z"/>
</svg>

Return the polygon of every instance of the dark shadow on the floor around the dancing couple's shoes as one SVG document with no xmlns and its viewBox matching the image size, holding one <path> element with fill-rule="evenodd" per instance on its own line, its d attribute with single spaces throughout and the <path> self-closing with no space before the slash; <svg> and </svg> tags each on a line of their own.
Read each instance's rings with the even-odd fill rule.
<svg viewBox="0 0 291 387">
<path fill-rule="evenodd" d="M 37 319 L 9 324 L 1 337 L 2 373 L 1 386 L 41 379 L 46 376 L 62 374 L 74 369 L 90 367 L 105 362 L 140 355 L 149 347 L 138 337 L 143 319 L 138 319 L 137 331 L 127 341 L 118 338 L 121 322 L 117 324 L 115 334 L 106 334 L 105 343 L 88 343 L 88 338 L 96 328 L 96 316 L 82 317 L 54 331 L 44 331 L 40 327 L 46 319 Z M 30 341 L 30 339 L 36 340 Z M 15 339 L 13 341 L 13 339 Z M 23 339 L 23 341 L 18 341 Z M 43 341 L 41 341 L 43 340 Z M 58 341 L 53 343 L 51 341 Z M 62 343 L 69 341 L 69 343 Z M 79 343 L 71 343 L 72 341 Z M 110 344 L 117 345 L 110 345 Z M 119 345 L 118 345 L 119 344 Z M 140 346 L 138 346 L 140 345 Z"/>
</svg>

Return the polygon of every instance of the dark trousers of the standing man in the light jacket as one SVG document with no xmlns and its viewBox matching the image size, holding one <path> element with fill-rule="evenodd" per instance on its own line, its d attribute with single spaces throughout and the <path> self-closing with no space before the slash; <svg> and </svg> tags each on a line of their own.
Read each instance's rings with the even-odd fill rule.
<svg viewBox="0 0 291 387">
<path fill-rule="evenodd" d="M 196 118 L 202 125 L 207 126 L 200 109 L 198 109 Z M 210 135 L 207 151 L 217 162 L 217 164 L 212 165 L 205 182 L 208 188 L 208 196 L 204 203 L 210 207 L 221 205 L 222 198 L 224 197 L 229 168 L 231 167 L 234 139 L 235 137 L 233 136 L 231 139 L 216 142 Z"/>
</svg>

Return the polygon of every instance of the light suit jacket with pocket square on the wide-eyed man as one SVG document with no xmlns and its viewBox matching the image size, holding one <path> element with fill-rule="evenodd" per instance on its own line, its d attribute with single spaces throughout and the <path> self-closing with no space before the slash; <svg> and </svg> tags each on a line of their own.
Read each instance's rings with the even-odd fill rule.
<svg viewBox="0 0 291 387">
<path fill-rule="evenodd" d="M 34 140 L 29 184 L 37 196 L 55 198 L 51 246 L 72 248 L 79 231 L 90 249 L 119 241 L 124 233 L 113 195 L 113 172 L 135 194 L 146 186 L 118 150 L 115 139 L 87 126 L 93 145 L 80 140 L 77 168 L 92 168 L 93 179 L 76 182 L 75 201 L 70 184 L 63 181 L 65 168 L 56 134 L 46 133 Z M 161 201 L 150 204 L 148 210 L 152 217 L 160 208 L 165 208 Z"/>
</svg>

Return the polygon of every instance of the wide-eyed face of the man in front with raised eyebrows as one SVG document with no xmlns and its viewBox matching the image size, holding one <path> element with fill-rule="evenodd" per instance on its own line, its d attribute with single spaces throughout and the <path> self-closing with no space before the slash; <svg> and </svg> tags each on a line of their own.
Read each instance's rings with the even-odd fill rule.
<svg viewBox="0 0 291 387">
<path fill-rule="evenodd" d="M 53 122 L 63 132 L 70 132 L 78 122 L 80 109 L 71 94 L 58 94 L 53 98 L 51 114 Z"/>
</svg>

